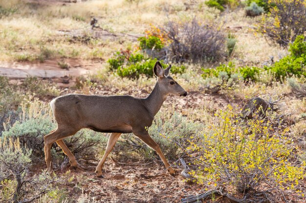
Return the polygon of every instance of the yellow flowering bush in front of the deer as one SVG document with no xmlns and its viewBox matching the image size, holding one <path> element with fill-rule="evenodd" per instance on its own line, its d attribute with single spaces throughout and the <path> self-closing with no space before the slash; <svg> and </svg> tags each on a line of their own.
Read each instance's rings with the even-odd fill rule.
<svg viewBox="0 0 306 203">
<path fill-rule="evenodd" d="M 275 127 L 267 118 L 241 120 L 230 105 L 216 116 L 220 122 L 200 141 L 189 139 L 187 151 L 195 160 L 190 174 L 198 184 L 226 188 L 231 195 L 266 186 L 302 195 L 299 184 L 305 162 L 297 162 L 292 155 L 297 148 L 287 136 L 289 129 Z"/>
</svg>

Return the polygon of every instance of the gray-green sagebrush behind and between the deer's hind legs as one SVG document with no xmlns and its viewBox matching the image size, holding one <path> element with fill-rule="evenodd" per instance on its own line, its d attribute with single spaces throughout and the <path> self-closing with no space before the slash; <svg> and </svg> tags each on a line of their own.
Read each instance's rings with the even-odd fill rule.
<svg viewBox="0 0 306 203">
<path fill-rule="evenodd" d="M 49 106 L 36 100 L 28 106 L 23 106 L 20 117 L 20 120 L 16 121 L 13 126 L 2 131 L 1 137 L 18 138 L 23 146 L 26 145 L 31 148 L 32 161 L 40 162 L 44 160 L 44 135 L 49 134 L 51 130 L 56 128 L 56 124 L 52 121 Z M 106 143 L 106 139 L 103 134 L 84 129 L 65 141 L 76 157 L 80 156 L 87 160 L 94 160 L 95 149 L 102 147 Z M 61 153 L 57 145 L 54 145 L 52 153 L 54 155 L 58 154 L 55 156 L 58 163 L 63 160 L 64 154 Z"/>
</svg>

